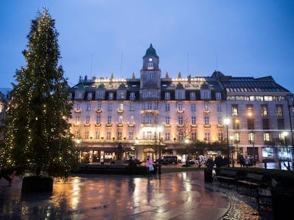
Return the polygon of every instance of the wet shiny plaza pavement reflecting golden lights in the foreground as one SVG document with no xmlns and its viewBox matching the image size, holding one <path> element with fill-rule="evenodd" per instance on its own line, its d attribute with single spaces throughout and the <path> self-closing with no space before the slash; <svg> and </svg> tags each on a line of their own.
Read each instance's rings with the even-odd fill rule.
<svg viewBox="0 0 294 220">
<path fill-rule="evenodd" d="M 42 193 L 21 193 L 21 182 L 0 180 L 0 219 L 273 219 L 234 186 L 205 183 L 203 170 L 72 175 Z"/>
</svg>

